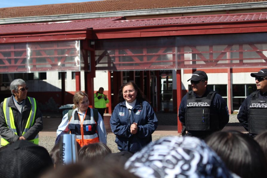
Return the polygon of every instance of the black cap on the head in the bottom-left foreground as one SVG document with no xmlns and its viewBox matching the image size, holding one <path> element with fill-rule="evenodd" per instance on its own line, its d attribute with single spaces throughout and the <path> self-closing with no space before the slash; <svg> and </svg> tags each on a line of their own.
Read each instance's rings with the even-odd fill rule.
<svg viewBox="0 0 267 178">
<path fill-rule="evenodd" d="M 0 177 L 39 177 L 53 166 L 48 151 L 26 140 L 7 145 L 0 151 Z"/>
</svg>

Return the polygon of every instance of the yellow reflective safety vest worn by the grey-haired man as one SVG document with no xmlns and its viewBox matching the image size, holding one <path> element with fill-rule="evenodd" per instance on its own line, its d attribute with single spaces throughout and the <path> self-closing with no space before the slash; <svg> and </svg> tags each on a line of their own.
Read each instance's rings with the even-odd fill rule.
<svg viewBox="0 0 267 178">
<path fill-rule="evenodd" d="M 32 105 L 31 111 L 30 111 L 30 115 L 29 118 L 27 120 L 26 126 L 24 128 L 24 131 L 22 133 L 22 136 L 30 129 L 30 127 L 33 126 L 34 123 L 34 119 L 35 119 L 35 114 L 36 114 L 36 101 L 35 98 L 31 98 L 31 97 L 27 97 Z M 12 97 L 9 98 L 5 98 L 4 102 L 3 102 L 3 111 L 4 111 L 4 116 L 6 119 L 6 123 L 7 123 L 7 127 L 14 132 L 16 135 L 18 135 L 17 133 L 17 129 L 15 126 L 15 120 L 14 120 L 14 116 L 13 116 L 13 111 L 11 109 L 11 107 L 8 107 L 8 102 L 9 100 L 12 99 Z M 33 142 L 34 144 L 38 145 L 39 143 L 39 135 L 37 134 L 36 137 L 32 140 L 28 140 L 29 142 Z M 7 145 L 9 144 L 9 142 L 4 139 L 1 138 L 1 145 Z"/>
</svg>

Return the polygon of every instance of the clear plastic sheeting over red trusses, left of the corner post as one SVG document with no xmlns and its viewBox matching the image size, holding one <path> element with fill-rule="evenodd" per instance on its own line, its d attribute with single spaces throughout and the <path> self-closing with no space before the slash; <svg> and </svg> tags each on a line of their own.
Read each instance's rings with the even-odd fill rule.
<svg viewBox="0 0 267 178">
<path fill-rule="evenodd" d="M 76 41 L 72 42 L 73 45 L 71 43 L 65 44 L 64 42 L 60 42 L 60 45 L 58 42 L 50 42 L 52 44 L 49 44 L 49 47 L 42 47 L 42 42 L 28 43 L 28 47 L 31 50 L 31 55 L 28 56 L 29 59 L 26 59 L 26 43 L 19 46 L 16 46 L 17 44 L 0 46 L 0 73 L 34 71 L 46 72 L 47 70 L 79 71 L 80 67 L 76 66 L 76 62 L 74 60 L 75 56 L 78 54 L 72 53 L 73 49 L 76 50 L 76 46 L 74 45 Z M 60 54 L 59 50 L 64 50 L 64 53 Z M 53 52 L 48 53 L 48 51 Z M 39 54 L 37 52 L 39 52 Z M 67 57 L 71 57 L 71 59 L 66 61 Z M 40 61 L 39 59 L 45 60 Z M 66 66 L 66 64 L 68 65 Z"/>
</svg>

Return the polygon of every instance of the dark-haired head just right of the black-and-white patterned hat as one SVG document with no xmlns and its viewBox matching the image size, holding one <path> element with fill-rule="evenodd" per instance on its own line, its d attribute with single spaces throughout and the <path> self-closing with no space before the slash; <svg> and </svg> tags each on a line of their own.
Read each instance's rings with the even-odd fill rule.
<svg viewBox="0 0 267 178">
<path fill-rule="evenodd" d="M 237 131 L 219 131 L 205 139 L 228 169 L 243 178 L 267 177 L 267 163 L 260 145 Z"/>
</svg>

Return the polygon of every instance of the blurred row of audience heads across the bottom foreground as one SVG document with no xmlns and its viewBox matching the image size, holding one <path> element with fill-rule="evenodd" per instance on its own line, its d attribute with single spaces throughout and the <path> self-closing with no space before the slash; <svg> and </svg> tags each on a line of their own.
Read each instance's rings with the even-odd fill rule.
<svg viewBox="0 0 267 178">
<path fill-rule="evenodd" d="M 0 150 L 0 177 L 267 177 L 267 132 L 255 139 L 237 131 L 204 140 L 163 137 L 134 155 L 102 143 L 77 144 L 78 162 L 62 165 L 59 143 L 50 151 L 20 140 Z"/>
</svg>

